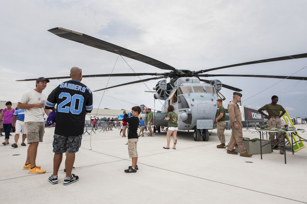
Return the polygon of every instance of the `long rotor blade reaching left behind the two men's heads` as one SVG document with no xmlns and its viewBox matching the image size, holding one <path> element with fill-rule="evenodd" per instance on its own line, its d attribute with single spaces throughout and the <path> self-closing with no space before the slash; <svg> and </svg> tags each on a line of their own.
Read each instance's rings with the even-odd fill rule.
<svg viewBox="0 0 307 204">
<path fill-rule="evenodd" d="M 165 75 L 165 73 L 119 73 L 119 74 L 92 74 L 92 75 L 82 75 L 82 78 L 90 78 L 90 77 L 111 77 L 111 76 L 161 76 Z M 69 79 L 70 76 L 60 76 L 60 77 L 48 77 L 46 79 Z M 35 81 L 36 79 L 24 79 L 24 80 L 16 80 L 16 81 Z"/>
</svg>

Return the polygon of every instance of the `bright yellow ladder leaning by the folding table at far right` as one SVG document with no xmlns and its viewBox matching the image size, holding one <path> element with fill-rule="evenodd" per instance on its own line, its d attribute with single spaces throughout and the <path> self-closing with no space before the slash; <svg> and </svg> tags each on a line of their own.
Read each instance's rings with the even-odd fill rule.
<svg viewBox="0 0 307 204">
<path fill-rule="evenodd" d="M 282 111 L 280 111 L 282 113 Z M 282 120 L 282 124 L 288 124 L 289 125 L 289 128 L 294 127 L 294 124 L 292 123 L 291 121 L 291 118 L 289 117 L 288 115 L 288 112 L 286 111 L 286 113 L 282 116 L 282 118 L 280 118 Z M 291 125 L 290 125 L 291 124 Z M 302 141 L 299 141 L 300 140 L 300 135 L 298 134 L 298 132 L 296 134 L 293 134 L 293 133 L 286 133 L 286 138 L 290 144 L 290 147 L 293 149 L 293 152 L 296 152 L 302 148 L 305 147 L 304 143 Z M 291 137 L 293 138 L 293 141 L 294 141 L 294 144 L 293 144 L 293 147 L 292 147 L 292 143 L 291 143 Z M 299 141 L 299 142 L 297 142 Z"/>
</svg>

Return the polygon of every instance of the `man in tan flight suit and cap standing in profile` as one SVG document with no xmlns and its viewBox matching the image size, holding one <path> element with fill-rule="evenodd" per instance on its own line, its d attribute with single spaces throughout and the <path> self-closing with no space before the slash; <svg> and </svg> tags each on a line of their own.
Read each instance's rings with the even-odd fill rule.
<svg viewBox="0 0 307 204">
<path fill-rule="evenodd" d="M 233 93 L 233 100 L 228 104 L 229 113 L 229 127 L 231 128 L 231 138 L 229 140 L 227 153 L 238 154 L 233 148 L 235 144 L 239 147 L 241 157 L 251 157 L 252 154 L 248 153 L 243 145 L 243 132 L 242 132 L 242 119 L 241 112 L 237 102 L 240 102 L 242 94 L 238 92 Z"/>
</svg>

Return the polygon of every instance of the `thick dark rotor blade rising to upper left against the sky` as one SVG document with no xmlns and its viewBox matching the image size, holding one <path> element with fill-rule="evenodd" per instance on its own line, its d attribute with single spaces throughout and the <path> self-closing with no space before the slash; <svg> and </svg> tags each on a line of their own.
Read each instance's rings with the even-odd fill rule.
<svg viewBox="0 0 307 204">
<path fill-rule="evenodd" d="M 157 67 L 159 69 L 165 69 L 165 70 L 172 70 L 174 72 L 179 72 L 177 69 L 175 69 L 174 67 L 165 64 L 164 62 L 155 60 L 151 57 L 147 57 L 146 55 L 143 54 L 139 54 L 137 52 L 128 50 L 126 48 L 108 43 L 106 41 L 91 37 L 89 35 L 83 34 L 83 33 L 79 33 L 79 32 L 75 32 L 72 30 L 68 30 L 66 28 L 52 28 L 50 30 L 48 30 L 49 32 L 61 37 L 61 38 L 65 38 L 68 40 L 72 40 L 75 41 L 77 43 L 82 43 L 84 45 L 87 46 L 91 46 L 91 47 L 95 47 L 98 48 L 100 50 L 106 50 L 108 52 L 111 53 L 115 53 L 115 54 L 120 54 L 122 56 L 137 60 L 137 61 L 141 61 L 144 62 L 148 65 L 152 65 L 154 67 Z"/>
</svg>

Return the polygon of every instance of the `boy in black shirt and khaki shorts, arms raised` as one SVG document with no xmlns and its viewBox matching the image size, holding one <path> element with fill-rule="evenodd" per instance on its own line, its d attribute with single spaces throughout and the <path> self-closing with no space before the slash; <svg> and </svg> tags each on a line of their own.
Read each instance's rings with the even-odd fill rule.
<svg viewBox="0 0 307 204">
<path fill-rule="evenodd" d="M 129 158 L 132 158 L 132 165 L 125 169 L 126 173 L 134 173 L 138 170 L 138 124 L 140 120 L 138 115 L 141 113 L 140 106 L 134 106 L 131 109 L 132 117 L 128 117 L 128 114 L 125 113 L 123 121 L 129 123 L 129 133 L 128 133 L 128 153 Z"/>
</svg>

